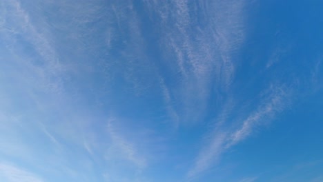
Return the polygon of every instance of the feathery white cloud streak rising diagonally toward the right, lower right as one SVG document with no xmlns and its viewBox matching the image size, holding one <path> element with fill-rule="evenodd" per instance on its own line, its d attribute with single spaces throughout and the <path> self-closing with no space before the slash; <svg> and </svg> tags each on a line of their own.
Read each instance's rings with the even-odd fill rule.
<svg viewBox="0 0 323 182">
<path fill-rule="evenodd" d="M 253 134 L 257 127 L 273 119 L 286 107 L 291 97 L 290 91 L 284 86 L 271 85 L 265 93 L 268 95 L 262 99 L 258 108 L 251 112 L 238 128 L 228 129 L 228 127 L 223 128 L 221 125 L 220 127 L 216 125 L 214 130 L 208 134 L 206 144 L 195 159 L 193 168 L 188 170 L 188 179 L 194 179 L 195 176 L 211 168 L 228 148 L 237 145 Z M 238 120 L 241 119 L 238 118 Z M 220 119 L 217 122 L 223 123 L 225 121 Z"/>
</svg>

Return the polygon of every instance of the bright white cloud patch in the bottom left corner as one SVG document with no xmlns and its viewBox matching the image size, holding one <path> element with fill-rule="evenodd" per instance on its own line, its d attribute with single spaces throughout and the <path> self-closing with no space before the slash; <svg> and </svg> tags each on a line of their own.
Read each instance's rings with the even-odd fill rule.
<svg viewBox="0 0 323 182">
<path fill-rule="evenodd" d="M 2 176 L 1 179 L 8 182 L 43 182 L 39 176 L 32 172 L 3 163 L 0 163 L 0 176 Z"/>
</svg>

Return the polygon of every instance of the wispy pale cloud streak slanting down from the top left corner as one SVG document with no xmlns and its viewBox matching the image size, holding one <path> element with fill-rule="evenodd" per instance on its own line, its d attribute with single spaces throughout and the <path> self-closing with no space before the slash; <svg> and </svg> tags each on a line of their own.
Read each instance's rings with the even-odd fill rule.
<svg viewBox="0 0 323 182">
<path fill-rule="evenodd" d="M 21 7 L 19 1 L 6 1 L 6 23 L 3 25 L 9 30 L 6 31 L 7 37 L 3 37 L 6 43 L 13 45 L 8 45 L 8 48 L 14 53 L 17 53 L 17 48 L 21 45 L 15 45 L 17 42 L 17 34 L 23 37 L 24 40 L 28 41 L 32 48 L 37 52 L 40 59 L 34 58 L 34 60 L 19 59 L 22 65 L 26 65 L 27 68 L 32 70 L 39 79 L 42 79 L 42 86 L 49 92 L 61 92 L 61 77 L 60 74 L 63 73 L 63 66 L 59 62 L 59 58 L 52 46 L 52 41 L 50 40 L 50 34 L 47 29 L 46 23 L 43 25 L 35 25 L 33 20 L 30 18 L 28 12 Z M 41 27 L 41 28 L 40 28 Z M 15 41 L 13 41 L 15 40 Z M 37 60 L 37 61 L 35 61 Z"/>
</svg>

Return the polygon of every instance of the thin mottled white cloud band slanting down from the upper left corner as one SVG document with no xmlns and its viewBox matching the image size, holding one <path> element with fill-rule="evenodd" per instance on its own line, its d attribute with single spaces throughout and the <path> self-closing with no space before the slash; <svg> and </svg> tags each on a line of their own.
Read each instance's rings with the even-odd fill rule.
<svg viewBox="0 0 323 182">
<path fill-rule="evenodd" d="M 61 93 L 63 89 L 61 74 L 64 68 L 52 46 L 48 24 L 45 21 L 35 23 L 30 17 L 30 12 L 25 10 L 19 1 L 5 1 L 2 9 L 6 12 L 3 23 L 6 28 L 1 30 L 1 37 L 7 45 L 6 48 L 16 58 L 12 61 L 23 67 L 25 72 L 29 71 L 28 79 L 25 79 L 26 75 L 21 75 L 24 76 L 22 80 L 32 85 L 31 88 L 37 87 L 46 92 Z M 22 42 L 17 39 L 17 35 L 22 37 Z M 32 45 L 36 53 L 33 57 L 19 50 L 23 41 Z"/>
</svg>

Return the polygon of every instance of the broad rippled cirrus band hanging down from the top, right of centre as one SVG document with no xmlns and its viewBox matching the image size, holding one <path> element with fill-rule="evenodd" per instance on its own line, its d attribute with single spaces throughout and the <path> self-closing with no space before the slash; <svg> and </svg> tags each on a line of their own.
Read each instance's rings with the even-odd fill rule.
<svg viewBox="0 0 323 182">
<path fill-rule="evenodd" d="M 173 98 L 167 108 L 176 105 L 179 123 L 197 123 L 206 114 L 211 90 L 228 92 L 234 78 L 234 54 L 244 41 L 245 2 L 145 2 L 157 14 L 164 64 L 177 83 L 168 88 Z"/>
</svg>

